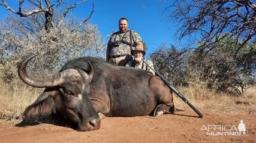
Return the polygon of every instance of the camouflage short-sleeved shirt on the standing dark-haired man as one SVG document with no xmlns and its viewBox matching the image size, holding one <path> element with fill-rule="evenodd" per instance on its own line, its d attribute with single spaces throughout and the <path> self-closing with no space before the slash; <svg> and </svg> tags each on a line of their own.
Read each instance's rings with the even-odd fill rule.
<svg viewBox="0 0 256 143">
<path fill-rule="evenodd" d="M 129 31 L 125 33 L 115 32 L 110 36 L 107 46 L 110 48 L 110 55 L 124 55 L 130 54 L 130 36 Z M 140 35 L 134 30 L 131 30 L 132 33 L 132 49 L 135 49 L 135 46 L 138 42 L 142 42 Z"/>
</svg>

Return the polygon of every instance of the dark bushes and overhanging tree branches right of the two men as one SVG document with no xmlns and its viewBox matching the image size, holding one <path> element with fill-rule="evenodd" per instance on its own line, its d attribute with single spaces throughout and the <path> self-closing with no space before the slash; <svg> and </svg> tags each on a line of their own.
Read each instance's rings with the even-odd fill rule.
<svg viewBox="0 0 256 143">
<path fill-rule="evenodd" d="M 183 42 L 160 46 L 151 55 L 156 69 L 174 85 L 195 83 L 236 95 L 255 84 L 255 1 L 168 2 L 165 14 L 178 23 Z"/>
</svg>

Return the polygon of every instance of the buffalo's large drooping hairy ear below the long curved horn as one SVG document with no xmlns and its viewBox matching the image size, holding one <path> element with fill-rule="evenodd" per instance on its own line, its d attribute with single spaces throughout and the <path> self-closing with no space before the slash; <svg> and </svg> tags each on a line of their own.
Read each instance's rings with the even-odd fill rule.
<svg viewBox="0 0 256 143">
<path fill-rule="evenodd" d="M 34 121 L 46 119 L 51 116 L 52 113 L 55 113 L 53 96 L 44 92 L 33 104 L 26 107 L 23 112 L 23 117 L 25 121 Z"/>
</svg>

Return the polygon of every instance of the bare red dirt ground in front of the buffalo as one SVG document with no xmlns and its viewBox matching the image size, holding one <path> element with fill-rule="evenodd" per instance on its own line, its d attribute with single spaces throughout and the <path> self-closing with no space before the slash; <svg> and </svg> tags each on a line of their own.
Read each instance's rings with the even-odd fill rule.
<svg viewBox="0 0 256 143">
<path fill-rule="evenodd" d="M 194 117 L 196 114 L 192 110 L 161 117 L 107 117 L 101 120 L 100 129 L 91 132 L 77 132 L 50 124 L 16 127 L 10 122 L 0 122 L 0 142 L 256 142 L 254 112 L 247 115 L 201 112 L 203 118 Z M 209 125 L 234 125 L 237 129 L 240 120 L 246 123 L 245 135 L 206 135 L 205 129 Z M 203 126 L 206 128 L 202 129 Z M 230 128 L 226 130 L 230 132 Z M 215 132 L 222 131 L 217 129 Z M 236 130 L 233 128 L 231 132 Z"/>
</svg>

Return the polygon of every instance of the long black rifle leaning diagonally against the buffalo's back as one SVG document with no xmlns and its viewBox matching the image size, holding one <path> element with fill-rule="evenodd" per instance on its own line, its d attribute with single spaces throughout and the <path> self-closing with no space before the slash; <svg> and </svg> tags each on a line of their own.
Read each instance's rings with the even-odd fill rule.
<svg viewBox="0 0 256 143">
<path fill-rule="evenodd" d="M 142 60 L 143 60 L 144 63 L 146 63 L 146 61 L 144 61 L 143 58 L 142 58 Z M 147 63 L 146 63 L 146 64 L 147 64 Z M 147 64 L 147 66 L 150 67 L 149 64 Z M 198 111 L 197 108 L 194 107 L 194 105 L 192 105 L 190 102 L 188 102 L 188 100 L 186 100 L 186 98 L 185 98 L 179 91 L 177 91 L 177 89 L 175 89 L 174 86 L 171 85 L 171 83 L 168 82 L 168 81 L 164 78 L 164 76 L 162 76 L 160 73 L 158 73 L 158 71 L 155 71 L 152 67 L 150 67 L 150 69 L 155 72 L 155 75 L 156 75 L 156 76 L 159 76 L 159 77 L 162 79 L 162 81 L 165 83 L 165 85 L 168 86 L 168 88 L 171 89 L 171 91 L 173 91 L 173 92 L 174 92 L 178 97 L 180 97 L 186 104 L 188 104 L 189 107 L 191 107 L 192 110 L 194 110 L 195 113 L 197 113 L 200 118 L 203 117 L 203 114 L 200 113 L 200 111 Z"/>
</svg>

